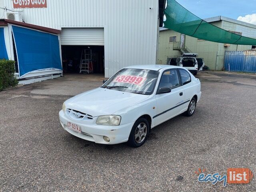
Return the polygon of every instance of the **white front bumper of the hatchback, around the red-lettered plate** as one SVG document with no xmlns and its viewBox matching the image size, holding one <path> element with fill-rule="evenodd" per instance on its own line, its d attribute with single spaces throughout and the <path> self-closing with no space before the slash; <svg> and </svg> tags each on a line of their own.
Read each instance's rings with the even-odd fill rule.
<svg viewBox="0 0 256 192">
<path fill-rule="evenodd" d="M 106 126 L 96 124 L 96 119 L 91 121 L 78 121 L 68 117 L 63 110 L 59 112 L 60 124 L 70 134 L 84 140 L 92 141 L 100 144 L 118 144 L 127 142 L 134 122 L 119 125 Z M 81 133 L 68 128 L 68 122 L 77 124 L 81 127 Z M 106 142 L 103 136 L 107 136 L 110 141 Z"/>
</svg>

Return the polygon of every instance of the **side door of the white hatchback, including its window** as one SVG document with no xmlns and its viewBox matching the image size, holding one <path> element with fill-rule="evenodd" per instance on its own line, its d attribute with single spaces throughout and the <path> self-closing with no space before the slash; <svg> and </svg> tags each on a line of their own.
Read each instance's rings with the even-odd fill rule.
<svg viewBox="0 0 256 192">
<path fill-rule="evenodd" d="M 157 115 L 154 116 L 156 125 L 180 114 L 180 104 L 184 101 L 178 70 L 168 69 L 162 73 L 156 92 Z M 160 94 L 160 88 L 170 88 L 171 92 Z"/>
</svg>

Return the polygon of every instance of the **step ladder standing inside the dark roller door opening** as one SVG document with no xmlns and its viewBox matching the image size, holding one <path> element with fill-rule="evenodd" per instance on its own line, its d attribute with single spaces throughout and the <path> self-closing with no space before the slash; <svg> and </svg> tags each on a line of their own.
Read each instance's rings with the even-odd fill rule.
<svg viewBox="0 0 256 192">
<path fill-rule="evenodd" d="M 90 72 L 93 73 L 91 49 L 82 50 L 80 61 L 80 73 L 84 72 L 86 72 L 87 74 L 89 74 Z"/>
</svg>

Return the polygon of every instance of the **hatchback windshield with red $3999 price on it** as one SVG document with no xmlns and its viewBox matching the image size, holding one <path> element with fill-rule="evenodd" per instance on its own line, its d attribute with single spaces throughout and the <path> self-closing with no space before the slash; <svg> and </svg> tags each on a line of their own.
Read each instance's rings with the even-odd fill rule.
<svg viewBox="0 0 256 192">
<path fill-rule="evenodd" d="M 122 69 L 110 78 L 102 88 L 150 95 L 156 86 L 159 72 L 145 69 Z"/>
</svg>

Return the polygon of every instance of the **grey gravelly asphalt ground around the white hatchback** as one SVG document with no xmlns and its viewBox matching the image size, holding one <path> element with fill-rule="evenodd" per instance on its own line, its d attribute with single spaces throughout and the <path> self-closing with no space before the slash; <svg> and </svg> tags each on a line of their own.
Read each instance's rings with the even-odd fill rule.
<svg viewBox="0 0 256 192">
<path fill-rule="evenodd" d="M 256 174 L 256 75 L 198 74 L 194 116 L 154 128 L 140 148 L 76 138 L 58 120 L 62 103 L 102 77 L 67 76 L 0 92 L 0 191 L 256 191 L 250 184 L 199 183 L 195 171 Z"/>
</svg>

